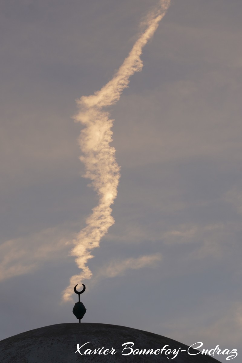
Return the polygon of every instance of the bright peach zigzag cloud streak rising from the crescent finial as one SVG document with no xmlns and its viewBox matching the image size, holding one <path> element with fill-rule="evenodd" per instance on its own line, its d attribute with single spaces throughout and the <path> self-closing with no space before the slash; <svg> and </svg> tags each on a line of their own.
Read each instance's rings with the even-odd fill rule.
<svg viewBox="0 0 242 363">
<path fill-rule="evenodd" d="M 85 125 L 79 138 L 82 151 L 80 160 L 86 168 L 84 177 L 91 179 L 91 185 L 99 196 L 99 204 L 93 208 L 92 214 L 86 220 L 86 227 L 73 241 L 75 246 L 71 250 L 71 255 L 76 257 L 75 261 L 82 272 L 70 278 L 70 285 L 63 291 L 64 300 L 70 299 L 74 285 L 91 278 L 92 273 L 87 266 L 87 261 L 93 257 L 91 250 L 99 247 L 101 238 L 114 224 L 110 205 L 114 203 L 117 196 L 120 168 L 116 163 L 115 148 L 110 146 L 113 120 L 104 109 L 119 100 L 124 88 L 128 87 L 130 76 L 141 71 L 142 49 L 155 33 L 170 2 L 171 0 L 161 0 L 159 6 L 149 13 L 145 24 L 143 23 L 146 29 L 139 36 L 130 54 L 111 81 L 93 95 L 82 96 L 77 101 L 80 112 L 75 115 L 75 121 Z"/>
</svg>

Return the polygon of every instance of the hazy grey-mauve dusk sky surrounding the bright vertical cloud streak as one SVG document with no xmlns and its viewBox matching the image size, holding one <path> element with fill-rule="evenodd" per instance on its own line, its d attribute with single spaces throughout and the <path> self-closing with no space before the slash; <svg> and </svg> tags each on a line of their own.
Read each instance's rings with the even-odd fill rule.
<svg viewBox="0 0 242 363">
<path fill-rule="evenodd" d="M 82 177 L 76 100 L 112 80 L 157 3 L 1 1 L 0 339 L 77 322 L 77 295 L 62 296 L 81 272 L 71 250 L 99 198 Z M 236 348 L 234 362 L 241 13 L 240 0 L 172 0 L 143 48 L 143 69 L 107 107 L 120 167 L 115 223 L 81 281 L 83 322 Z"/>
</svg>

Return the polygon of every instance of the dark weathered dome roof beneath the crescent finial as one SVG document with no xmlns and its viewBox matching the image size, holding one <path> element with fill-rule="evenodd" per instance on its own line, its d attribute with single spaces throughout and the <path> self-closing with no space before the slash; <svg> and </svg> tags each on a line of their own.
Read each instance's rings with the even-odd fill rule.
<svg viewBox="0 0 242 363">
<path fill-rule="evenodd" d="M 176 340 L 125 326 L 68 323 L 45 326 L 1 340 L 0 357 L 2 363 L 218 362 L 209 355 L 192 355 L 198 350 L 188 348 Z"/>
</svg>

